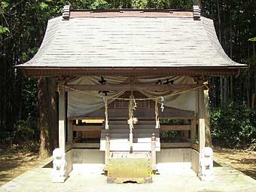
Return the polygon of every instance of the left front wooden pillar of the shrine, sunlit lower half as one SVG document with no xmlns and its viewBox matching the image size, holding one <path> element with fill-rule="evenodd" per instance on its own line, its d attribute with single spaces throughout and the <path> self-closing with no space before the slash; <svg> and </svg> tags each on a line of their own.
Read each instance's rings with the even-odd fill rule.
<svg viewBox="0 0 256 192">
<path fill-rule="evenodd" d="M 64 87 L 59 87 L 59 148 L 66 152 L 66 94 Z"/>
</svg>

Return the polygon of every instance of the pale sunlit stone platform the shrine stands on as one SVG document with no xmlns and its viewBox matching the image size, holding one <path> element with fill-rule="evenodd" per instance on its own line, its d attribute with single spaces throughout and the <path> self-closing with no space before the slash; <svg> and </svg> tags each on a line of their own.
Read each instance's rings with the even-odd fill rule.
<svg viewBox="0 0 256 192">
<path fill-rule="evenodd" d="M 108 184 L 107 177 L 101 174 L 102 163 L 85 163 L 83 169 L 75 165 L 65 183 L 52 183 L 51 164 L 29 170 L 0 187 L 0 192 L 61 191 L 61 192 L 102 192 L 102 191 L 208 191 L 208 192 L 256 192 L 256 181 L 242 172 L 215 163 L 215 181 L 200 181 L 192 169 L 161 163 L 160 175 L 153 176 L 151 184 Z M 176 167 L 176 168 L 175 168 Z M 178 168 L 177 168 L 178 167 Z M 92 169 L 93 168 L 93 169 Z"/>
</svg>

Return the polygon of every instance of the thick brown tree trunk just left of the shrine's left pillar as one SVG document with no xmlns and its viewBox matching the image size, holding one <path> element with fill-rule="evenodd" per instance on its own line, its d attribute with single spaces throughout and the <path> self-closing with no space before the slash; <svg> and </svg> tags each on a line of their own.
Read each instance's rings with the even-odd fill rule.
<svg viewBox="0 0 256 192">
<path fill-rule="evenodd" d="M 40 112 L 41 158 L 50 157 L 58 146 L 58 112 L 54 78 L 38 80 L 38 108 Z"/>
</svg>

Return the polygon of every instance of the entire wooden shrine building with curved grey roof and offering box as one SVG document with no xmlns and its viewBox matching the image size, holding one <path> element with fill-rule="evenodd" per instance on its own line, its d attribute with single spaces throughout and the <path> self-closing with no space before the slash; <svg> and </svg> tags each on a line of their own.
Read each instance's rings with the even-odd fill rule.
<svg viewBox="0 0 256 192">
<path fill-rule="evenodd" d="M 62 17 L 49 20 L 38 53 L 17 69 L 59 80 L 59 157 L 66 166 L 57 181 L 83 164 L 90 148 L 105 154 L 108 181 L 143 182 L 161 162 L 187 163 L 198 175 L 209 169 L 201 159 L 207 79 L 238 75 L 244 67 L 224 53 L 213 21 L 198 6 L 65 6 Z"/>
</svg>

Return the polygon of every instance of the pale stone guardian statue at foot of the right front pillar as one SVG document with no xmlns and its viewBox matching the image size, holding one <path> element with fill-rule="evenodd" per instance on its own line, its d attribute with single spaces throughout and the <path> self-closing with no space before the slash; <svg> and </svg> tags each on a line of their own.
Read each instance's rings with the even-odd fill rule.
<svg viewBox="0 0 256 192">
<path fill-rule="evenodd" d="M 202 181 L 213 181 L 213 176 L 213 151 L 212 148 L 204 148 L 200 153 L 198 177 Z"/>
</svg>

